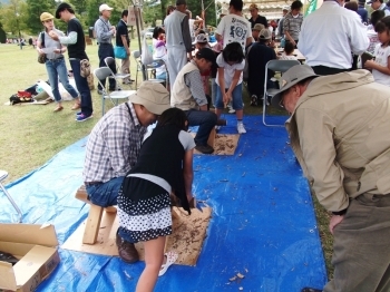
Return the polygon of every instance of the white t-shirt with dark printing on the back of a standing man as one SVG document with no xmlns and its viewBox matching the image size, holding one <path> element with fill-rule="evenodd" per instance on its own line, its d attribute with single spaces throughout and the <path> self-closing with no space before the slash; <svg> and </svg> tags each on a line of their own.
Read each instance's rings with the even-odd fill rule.
<svg viewBox="0 0 390 292">
<path fill-rule="evenodd" d="M 215 30 L 223 38 L 224 48 L 227 43 L 238 42 L 245 51 L 246 39 L 252 38 L 251 22 L 236 14 L 224 16 Z"/>
</svg>

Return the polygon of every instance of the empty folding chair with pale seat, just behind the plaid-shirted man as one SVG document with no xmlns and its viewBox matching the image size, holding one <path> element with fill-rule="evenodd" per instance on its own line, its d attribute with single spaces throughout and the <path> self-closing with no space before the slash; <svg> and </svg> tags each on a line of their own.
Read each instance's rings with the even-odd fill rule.
<svg viewBox="0 0 390 292">
<path fill-rule="evenodd" d="M 115 78 L 115 75 L 113 74 L 111 69 L 108 67 L 100 67 L 94 70 L 95 77 L 98 79 L 99 85 L 101 86 L 101 115 L 105 115 L 105 104 L 106 99 L 110 99 L 113 105 L 117 106 L 119 99 L 128 99 L 129 96 L 134 95 L 137 93 L 136 90 L 115 90 L 115 91 L 108 91 L 107 88 L 103 86 L 100 80 L 106 80 L 107 77 L 114 78 L 116 81 L 117 79 Z M 118 81 L 117 81 L 118 82 Z M 116 99 L 114 103 L 113 99 Z"/>
</svg>

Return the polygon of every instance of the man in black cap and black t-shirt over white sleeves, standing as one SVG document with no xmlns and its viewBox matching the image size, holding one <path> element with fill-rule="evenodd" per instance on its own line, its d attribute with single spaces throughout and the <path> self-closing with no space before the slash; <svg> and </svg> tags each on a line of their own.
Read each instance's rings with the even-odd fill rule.
<svg viewBox="0 0 390 292">
<path fill-rule="evenodd" d="M 76 114 L 77 121 L 84 121 L 92 117 L 92 98 L 88 87 L 87 77 L 90 72 L 84 72 L 81 76 L 81 61 L 88 62 L 86 53 L 86 40 L 80 21 L 75 17 L 75 10 L 66 2 L 60 3 L 56 10 L 56 18 L 68 23 L 67 36 L 59 37 L 53 30 L 49 36 L 62 45 L 68 46 L 70 67 L 74 71 L 77 90 L 81 97 L 81 111 Z M 75 108 L 76 109 L 76 108 Z"/>
</svg>

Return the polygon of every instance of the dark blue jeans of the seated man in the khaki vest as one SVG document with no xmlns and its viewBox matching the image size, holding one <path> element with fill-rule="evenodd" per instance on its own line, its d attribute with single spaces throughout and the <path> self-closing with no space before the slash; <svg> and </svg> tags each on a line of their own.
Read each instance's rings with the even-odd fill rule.
<svg viewBox="0 0 390 292">
<path fill-rule="evenodd" d="M 189 126 L 199 126 L 196 136 L 196 145 L 207 145 L 209 133 L 216 125 L 217 117 L 215 113 L 208 110 L 189 109 L 185 111 Z"/>
</svg>

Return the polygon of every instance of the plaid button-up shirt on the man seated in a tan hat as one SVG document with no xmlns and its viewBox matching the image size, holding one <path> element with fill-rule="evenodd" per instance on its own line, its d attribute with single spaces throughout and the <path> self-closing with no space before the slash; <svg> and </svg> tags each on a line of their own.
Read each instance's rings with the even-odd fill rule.
<svg viewBox="0 0 390 292">
<path fill-rule="evenodd" d="M 84 182 L 106 183 L 125 176 L 137 162 L 145 133 L 131 103 L 110 109 L 88 137 Z"/>
</svg>

